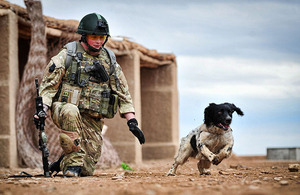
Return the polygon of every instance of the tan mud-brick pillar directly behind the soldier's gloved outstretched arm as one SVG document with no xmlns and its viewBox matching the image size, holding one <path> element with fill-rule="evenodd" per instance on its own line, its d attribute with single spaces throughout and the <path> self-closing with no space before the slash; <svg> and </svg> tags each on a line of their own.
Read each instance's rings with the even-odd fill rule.
<svg viewBox="0 0 300 195">
<path fill-rule="evenodd" d="M 117 62 L 121 65 L 126 76 L 129 92 L 134 103 L 136 118 L 139 126 L 142 127 L 140 57 L 138 51 L 131 50 L 129 55 L 117 56 Z M 106 119 L 105 124 L 108 126 L 106 135 L 117 150 L 120 159 L 125 162 L 140 163 L 142 161 L 142 146 L 129 131 L 126 119 L 121 118 L 117 113 L 113 119 Z"/>
</svg>

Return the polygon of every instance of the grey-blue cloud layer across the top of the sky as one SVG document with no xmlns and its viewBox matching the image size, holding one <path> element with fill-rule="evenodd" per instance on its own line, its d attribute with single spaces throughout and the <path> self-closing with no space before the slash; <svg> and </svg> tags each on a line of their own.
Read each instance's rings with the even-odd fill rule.
<svg viewBox="0 0 300 195">
<path fill-rule="evenodd" d="M 23 4 L 23 0 L 11 0 Z M 42 1 L 43 12 L 80 20 L 90 12 L 108 19 L 113 36 L 126 36 L 176 55 L 300 61 L 298 1 Z M 59 6 L 57 6 L 59 5 Z M 69 7 L 70 12 L 65 8 Z"/>
</svg>

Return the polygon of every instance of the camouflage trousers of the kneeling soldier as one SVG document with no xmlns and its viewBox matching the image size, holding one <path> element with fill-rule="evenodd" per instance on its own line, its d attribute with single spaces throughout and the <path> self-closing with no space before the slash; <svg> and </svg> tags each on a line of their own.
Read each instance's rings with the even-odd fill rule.
<svg viewBox="0 0 300 195">
<path fill-rule="evenodd" d="M 79 143 L 75 151 L 65 154 L 60 169 L 64 172 L 68 166 L 82 166 L 81 175 L 93 175 L 101 156 L 103 121 L 80 113 L 77 106 L 65 102 L 52 104 L 52 119 L 61 134 Z"/>
</svg>

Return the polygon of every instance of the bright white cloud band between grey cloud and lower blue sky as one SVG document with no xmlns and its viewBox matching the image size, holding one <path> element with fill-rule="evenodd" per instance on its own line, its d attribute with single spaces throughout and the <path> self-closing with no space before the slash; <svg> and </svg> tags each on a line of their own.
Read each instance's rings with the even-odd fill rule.
<svg viewBox="0 0 300 195">
<path fill-rule="evenodd" d="M 181 95 L 300 98 L 300 63 L 178 56 Z"/>
</svg>

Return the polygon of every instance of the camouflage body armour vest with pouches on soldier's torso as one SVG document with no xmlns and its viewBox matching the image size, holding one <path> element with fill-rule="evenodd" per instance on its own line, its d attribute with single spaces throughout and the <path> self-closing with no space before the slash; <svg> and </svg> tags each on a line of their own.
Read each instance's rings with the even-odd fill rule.
<svg viewBox="0 0 300 195">
<path fill-rule="evenodd" d="M 80 112 L 95 118 L 113 118 L 118 96 L 112 93 L 110 82 L 116 82 L 114 64 L 106 49 L 97 57 L 87 54 L 80 43 L 66 64 L 58 101 L 78 106 Z"/>
</svg>

